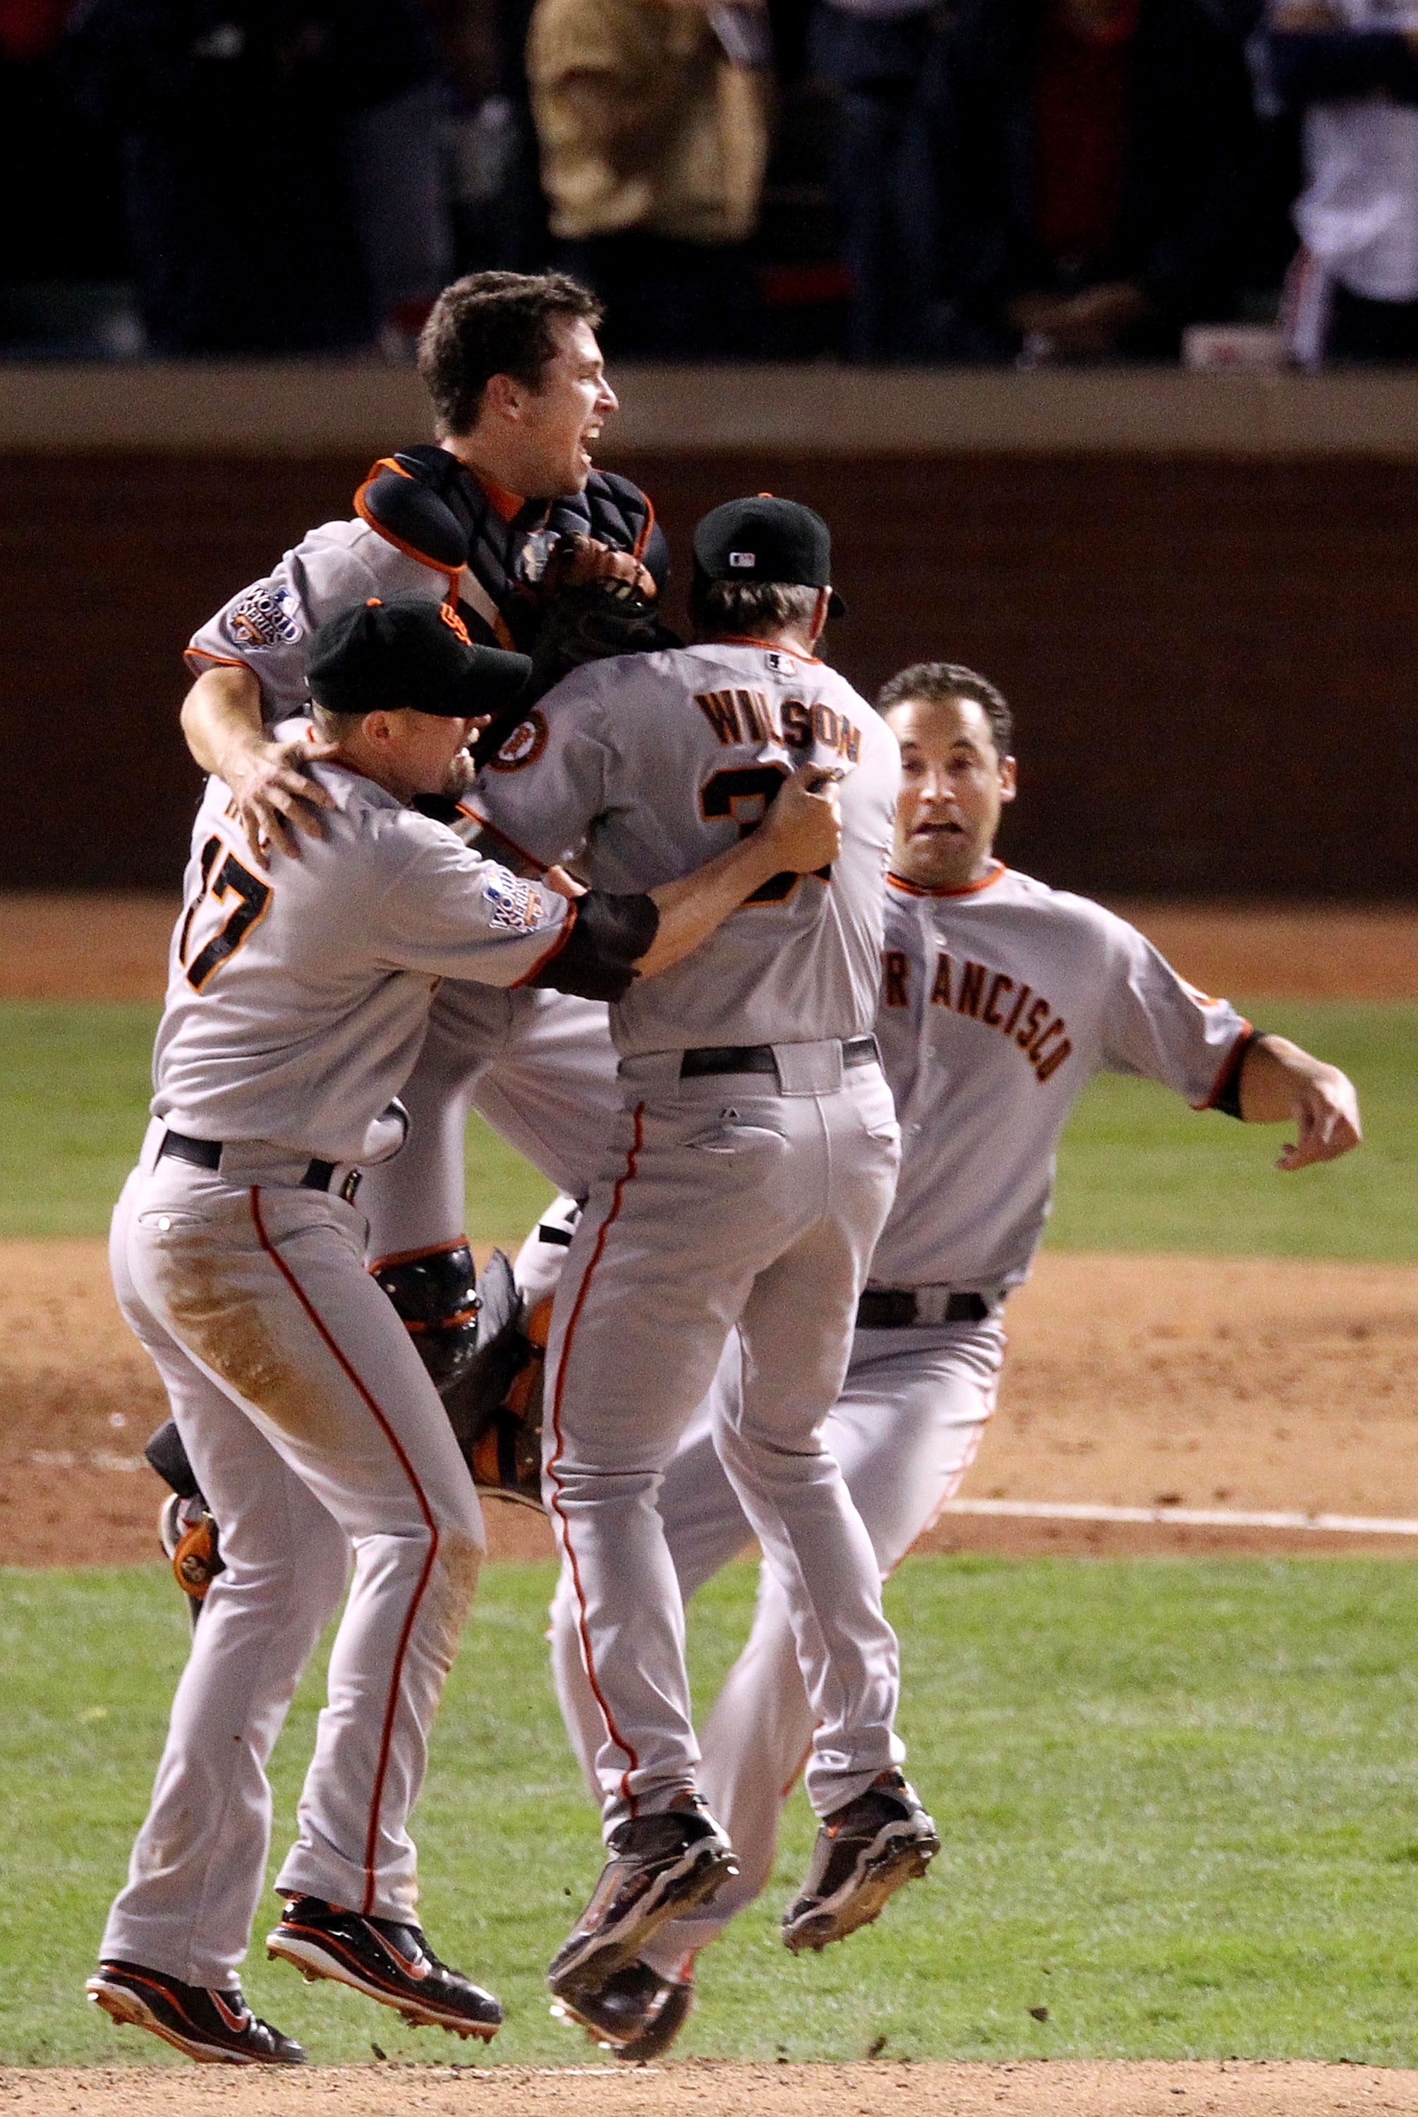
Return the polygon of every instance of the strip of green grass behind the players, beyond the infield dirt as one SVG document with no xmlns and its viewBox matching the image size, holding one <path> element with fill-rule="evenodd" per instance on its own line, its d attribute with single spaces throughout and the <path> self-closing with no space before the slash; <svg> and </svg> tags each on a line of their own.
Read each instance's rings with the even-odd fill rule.
<svg viewBox="0 0 1418 2117">
<path fill-rule="evenodd" d="M 1257 1001 L 1255 1018 L 1352 1073 L 1363 1152 L 1278 1177 L 1270 1126 L 1096 1080 L 1060 1152 L 1056 1247 L 1418 1260 L 1418 1008 Z M 154 1008 L 0 1006 L 0 1234 L 106 1230 L 142 1139 L 154 1027 Z M 478 1120 L 468 1171 L 470 1232 L 519 1243 L 546 1202 L 542 1177 Z"/>
</svg>

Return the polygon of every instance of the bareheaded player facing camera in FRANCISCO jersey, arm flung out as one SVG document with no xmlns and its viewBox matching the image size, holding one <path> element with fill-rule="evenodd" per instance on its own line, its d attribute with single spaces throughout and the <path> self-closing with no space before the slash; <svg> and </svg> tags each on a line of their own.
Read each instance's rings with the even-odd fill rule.
<svg viewBox="0 0 1418 2117">
<path fill-rule="evenodd" d="M 1086 898 L 993 855 L 1014 800 L 1010 709 L 969 669 L 927 663 L 883 690 L 902 745 L 876 1039 L 902 1122 L 902 1177 L 857 1306 L 851 1365 L 823 1444 L 840 1461 L 891 1573 L 976 1456 L 995 1410 L 1003 1304 L 1031 1268 L 1050 1207 L 1054 1145 L 1098 1069 L 1158 1080 L 1198 1109 L 1295 1122 L 1285 1171 L 1359 1143 L 1350 1082 L 1285 1037 L 1255 1031 L 1189 987 L 1143 936 Z M 561 1215 L 546 1215 L 555 1228 Z M 550 1249 L 533 1238 L 519 1274 Z M 722 1387 L 732 1393 L 732 1372 Z M 751 1518 L 701 1421 L 665 1471 L 658 1509 L 679 1592 L 743 1550 Z M 590 1785 L 603 1744 L 563 1573 L 552 1658 Z M 813 1742 L 815 1706 L 783 1588 L 764 1567 L 745 1651 L 713 1706 L 701 1787 L 739 1876 L 667 1924 L 635 1962 L 561 2011 L 624 2058 L 652 2058 L 692 2003 L 692 1960 L 770 1871 L 781 1802 Z"/>
</svg>

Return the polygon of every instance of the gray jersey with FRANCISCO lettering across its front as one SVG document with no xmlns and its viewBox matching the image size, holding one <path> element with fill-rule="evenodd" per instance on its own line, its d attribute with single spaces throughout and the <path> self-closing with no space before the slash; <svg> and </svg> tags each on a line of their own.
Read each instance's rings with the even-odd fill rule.
<svg viewBox="0 0 1418 2117">
<path fill-rule="evenodd" d="M 1018 1285 L 1084 1082 L 1137 1073 L 1206 1107 L 1247 1029 L 1088 898 L 1003 864 L 965 891 L 891 876 L 876 1042 L 902 1177 L 870 1283 Z"/>
</svg>

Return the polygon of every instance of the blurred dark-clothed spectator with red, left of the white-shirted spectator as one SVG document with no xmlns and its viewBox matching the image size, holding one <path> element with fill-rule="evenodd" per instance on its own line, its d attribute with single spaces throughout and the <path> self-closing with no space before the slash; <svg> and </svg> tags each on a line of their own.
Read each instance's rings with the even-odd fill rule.
<svg viewBox="0 0 1418 2117">
<path fill-rule="evenodd" d="M 942 258 L 965 358 L 1166 358 L 1230 313 L 1255 114 L 1240 6 L 963 0 L 942 47 Z"/>
</svg>

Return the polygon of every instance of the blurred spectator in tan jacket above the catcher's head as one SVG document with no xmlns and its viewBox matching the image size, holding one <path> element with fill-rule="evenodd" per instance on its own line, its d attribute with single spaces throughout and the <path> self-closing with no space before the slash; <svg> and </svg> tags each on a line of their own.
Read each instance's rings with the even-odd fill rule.
<svg viewBox="0 0 1418 2117">
<path fill-rule="evenodd" d="M 607 351 L 758 347 L 747 237 L 768 150 L 766 17 L 715 0 L 535 0 L 527 40 L 555 263 Z"/>
</svg>

